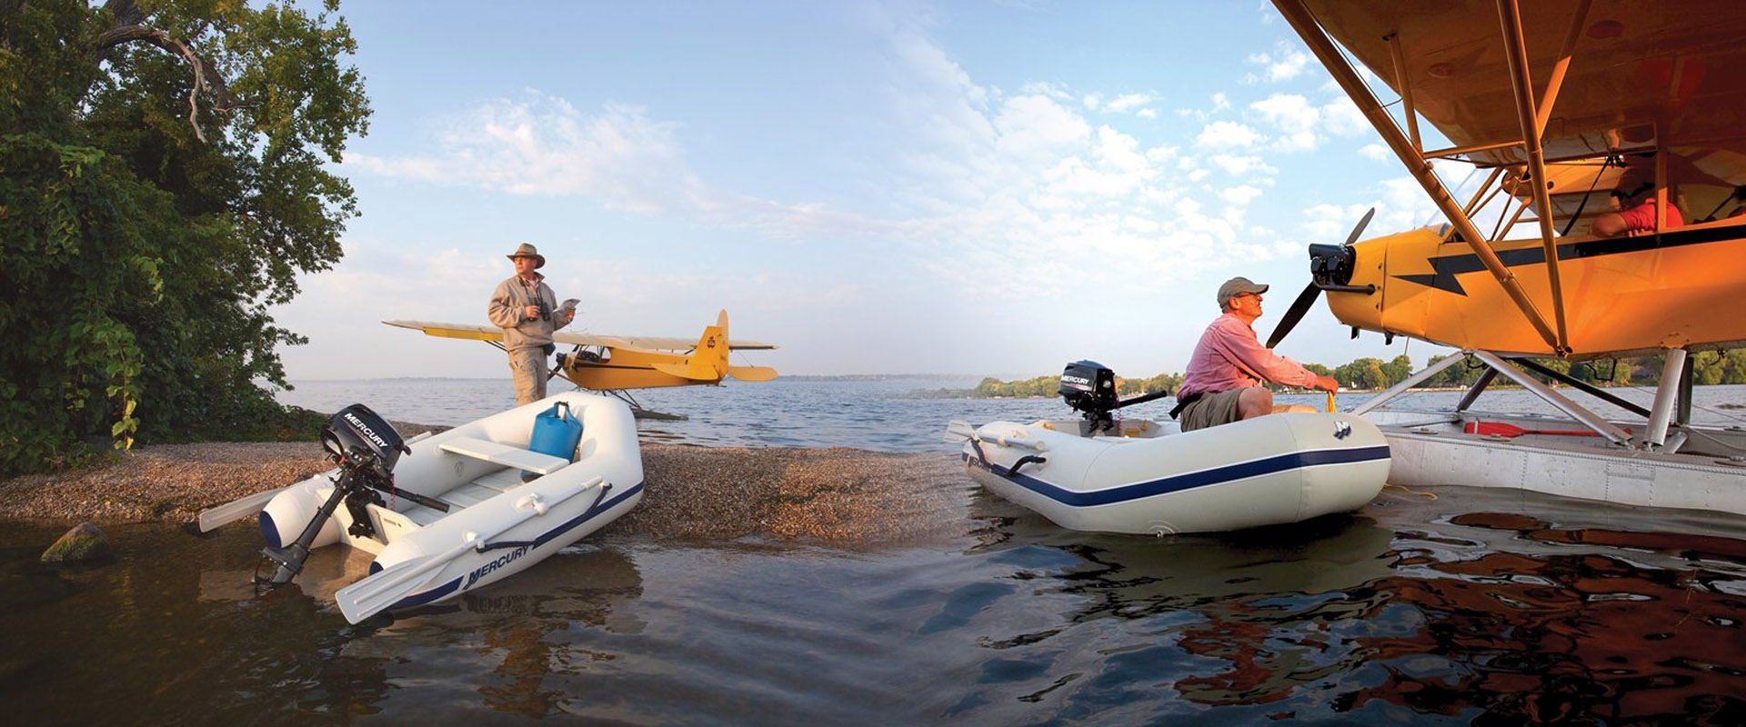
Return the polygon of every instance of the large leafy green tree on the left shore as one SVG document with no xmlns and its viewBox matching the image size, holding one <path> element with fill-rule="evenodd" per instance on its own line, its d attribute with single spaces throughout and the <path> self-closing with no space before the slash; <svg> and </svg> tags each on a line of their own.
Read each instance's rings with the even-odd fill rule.
<svg viewBox="0 0 1746 727">
<path fill-rule="evenodd" d="M 267 310 L 356 214 L 335 12 L 0 0 L 0 472 L 283 415 Z"/>
</svg>

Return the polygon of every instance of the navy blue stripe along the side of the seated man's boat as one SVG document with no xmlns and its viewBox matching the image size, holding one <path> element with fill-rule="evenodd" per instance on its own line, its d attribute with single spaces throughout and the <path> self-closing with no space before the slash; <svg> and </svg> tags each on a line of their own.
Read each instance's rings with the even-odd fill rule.
<svg viewBox="0 0 1746 727">
<path fill-rule="evenodd" d="M 1212 467 L 1163 479 L 1149 479 L 1144 483 L 1117 485 L 1093 492 L 1067 490 L 1060 485 L 1053 485 L 1023 472 L 1011 474 L 1006 471 L 1006 467 L 1000 465 L 985 467 L 976 457 L 971 457 L 969 453 L 964 453 L 962 457 L 971 465 L 983 467 L 993 474 L 999 474 L 1013 481 L 1018 486 L 1023 486 L 1025 490 L 1035 492 L 1063 506 L 1096 507 L 1096 506 L 1138 500 L 1154 495 L 1168 495 L 1172 492 L 1193 490 L 1198 486 L 1224 485 L 1236 479 L 1259 478 L 1262 474 L 1285 472 L 1301 467 L 1386 460 L 1388 445 L 1348 448 L 1348 450 L 1292 452 L 1289 455 L 1266 457 L 1259 460 L 1238 462 L 1224 467 Z"/>
</svg>

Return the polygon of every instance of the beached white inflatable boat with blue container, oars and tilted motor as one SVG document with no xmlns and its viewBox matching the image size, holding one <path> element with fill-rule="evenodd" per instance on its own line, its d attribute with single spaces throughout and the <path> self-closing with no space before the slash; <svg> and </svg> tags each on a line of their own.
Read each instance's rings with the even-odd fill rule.
<svg viewBox="0 0 1746 727">
<path fill-rule="evenodd" d="M 311 549 L 374 553 L 335 593 L 351 622 L 438 603 L 515 575 L 643 499 L 629 406 L 564 392 L 402 441 L 363 404 L 321 431 L 332 471 L 201 514 L 201 530 L 260 511 L 265 586 L 290 582 Z"/>
</svg>

